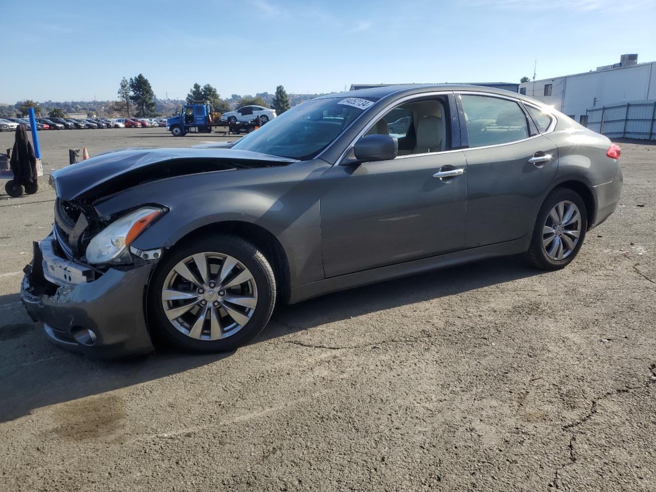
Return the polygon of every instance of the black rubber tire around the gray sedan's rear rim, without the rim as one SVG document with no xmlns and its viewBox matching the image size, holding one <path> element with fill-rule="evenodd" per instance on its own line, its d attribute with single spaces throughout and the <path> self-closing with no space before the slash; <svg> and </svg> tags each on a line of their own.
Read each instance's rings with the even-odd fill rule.
<svg viewBox="0 0 656 492">
<path fill-rule="evenodd" d="M 552 260 L 546 254 L 543 247 L 543 227 L 544 222 L 546 221 L 546 216 L 549 214 L 552 208 L 564 200 L 569 200 L 572 203 L 575 203 L 579 207 L 579 212 L 581 213 L 581 236 L 579 237 L 579 242 L 577 243 L 574 250 L 562 260 Z M 533 236 L 531 236 L 531 245 L 529 246 L 528 251 L 525 253 L 525 258 L 531 266 L 540 268 L 541 270 L 560 270 L 565 268 L 570 264 L 576 255 L 579 253 L 579 249 L 583 245 L 585 239 L 586 231 L 588 230 L 588 213 L 585 207 L 585 203 L 579 195 L 574 190 L 569 188 L 556 188 L 550 194 L 546 195 L 542 207 L 537 214 L 537 219 L 535 220 L 535 227 L 533 228 Z"/>
</svg>

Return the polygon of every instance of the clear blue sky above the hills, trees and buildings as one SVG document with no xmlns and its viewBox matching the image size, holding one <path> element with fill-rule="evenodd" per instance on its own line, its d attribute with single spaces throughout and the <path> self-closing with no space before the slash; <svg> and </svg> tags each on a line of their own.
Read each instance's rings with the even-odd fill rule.
<svg viewBox="0 0 656 492">
<path fill-rule="evenodd" d="M 170 2 L 0 0 L 0 102 L 342 91 L 351 83 L 515 82 L 656 60 L 656 0 Z"/>
</svg>

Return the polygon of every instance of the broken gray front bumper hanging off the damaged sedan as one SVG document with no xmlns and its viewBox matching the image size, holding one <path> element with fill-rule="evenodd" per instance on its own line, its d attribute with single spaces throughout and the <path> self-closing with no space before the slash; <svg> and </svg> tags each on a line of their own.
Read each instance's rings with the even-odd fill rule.
<svg viewBox="0 0 656 492">
<path fill-rule="evenodd" d="M 34 243 L 20 295 L 58 346 L 100 358 L 154 350 L 146 327 L 146 287 L 154 263 L 99 274 L 56 253 L 51 234 Z"/>
</svg>

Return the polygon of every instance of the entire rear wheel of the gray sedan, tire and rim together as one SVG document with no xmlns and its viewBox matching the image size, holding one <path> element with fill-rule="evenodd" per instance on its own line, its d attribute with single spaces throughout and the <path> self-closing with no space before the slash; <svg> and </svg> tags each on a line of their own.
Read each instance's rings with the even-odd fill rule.
<svg viewBox="0 0 656 492">
<path fill-rule="evenodd" d="M 588 213 L 581 195 L 556 188 L 537 215 L 526 259 L 542 270 L 565 268 L 579 253 L 587 230 Z"/>
</svg>

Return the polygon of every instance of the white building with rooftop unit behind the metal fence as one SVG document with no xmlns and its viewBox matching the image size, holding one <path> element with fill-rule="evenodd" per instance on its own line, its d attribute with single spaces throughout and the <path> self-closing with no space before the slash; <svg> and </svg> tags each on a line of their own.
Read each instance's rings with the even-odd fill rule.
<svg viewBox="0 0 656 492">
<path fill-rule="evenodd" d="M 656 99 L 656 62 L 637 61 L 637 54 L 622 55 L 619 63 L 597 67 L 594 72 L 524 82 L 520 94 L 541 100 L 585 124 L 588 109 Z"/>
</svg>

